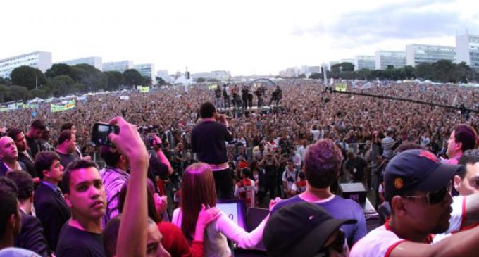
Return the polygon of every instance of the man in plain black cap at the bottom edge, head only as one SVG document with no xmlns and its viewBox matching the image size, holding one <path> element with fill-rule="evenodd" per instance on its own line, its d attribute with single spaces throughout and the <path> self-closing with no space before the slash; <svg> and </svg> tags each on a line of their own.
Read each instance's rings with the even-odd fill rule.
<svg viewBox="0 0 479 257">
<path fill-rule="evenodd" d="M 263 232 L 263 243 L 270 257 L 348 256 L 343 224 L 314 203 L 292 203 L 271 215 Z"/>
</svg>

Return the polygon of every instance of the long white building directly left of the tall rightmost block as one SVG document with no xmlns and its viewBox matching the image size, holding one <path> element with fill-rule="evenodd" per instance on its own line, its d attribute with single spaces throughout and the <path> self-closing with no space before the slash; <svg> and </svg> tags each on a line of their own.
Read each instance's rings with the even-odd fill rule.
<svg viewBox="0 0 479 257">
<path fill-rule="evenodd" d="M 439 60 L 456 61 L 456 47 L 433 46 L 430 44 L 406 45 L 406 65 L 416 66 L 419 63 L 435 63 Z"/>
</svg>

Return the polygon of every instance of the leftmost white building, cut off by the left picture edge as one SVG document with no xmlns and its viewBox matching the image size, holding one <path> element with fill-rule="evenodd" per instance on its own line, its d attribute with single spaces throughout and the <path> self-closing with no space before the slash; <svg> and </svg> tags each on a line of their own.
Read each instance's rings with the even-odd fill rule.
<svg viewBox="0 0 479 257">
<path fill-rule="evenodd" d="M 30 66 L 44 73 L 51 68 L 51 52 L 36 51 L 0 60 L 0 77 L 10 77 L 10 73 L 20 66 Z"/>
</svg>

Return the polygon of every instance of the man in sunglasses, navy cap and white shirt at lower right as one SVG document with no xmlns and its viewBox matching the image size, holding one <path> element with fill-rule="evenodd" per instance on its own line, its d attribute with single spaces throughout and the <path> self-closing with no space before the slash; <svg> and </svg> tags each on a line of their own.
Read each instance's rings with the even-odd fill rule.
<svg viewBox="0 0 479 257">
<path fill-rule="evenodd" d="M 451 230 L 451 216 L 452 222 L 460 220 L 461 227 L 477 218 L 471 209 L 477 205 L 475 195 L 453 203 L 449 194 L 449 182 L 460 170 L 461 166 L 441 163 L 425 150 L 408 150 L 392 158 L 384 176 L 391 217 L 359 240 L 350 256 L 477 256 L 479 227 L 431 245 L 433 234 Z M 461 210 L 459 215 L 456 210 Z M 462 213 L 471 215 L 466 219 Z"/>
</svg>

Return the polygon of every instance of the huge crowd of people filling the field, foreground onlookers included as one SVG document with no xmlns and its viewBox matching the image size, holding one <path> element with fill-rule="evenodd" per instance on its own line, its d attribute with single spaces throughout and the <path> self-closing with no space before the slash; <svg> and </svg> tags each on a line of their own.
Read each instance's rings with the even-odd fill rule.
<svg viewBox="0 0 479 257">
<path fill-rule="evenodd" d="M 479 237 L 459 232 L 478 222 L 479 115 L 464 111 L 478 109 L 478 89 L 366 89 L 462 111 L 323 92 L 314 80 L 218 90 L 114 92 L 69 111 L 0 113 L 0 256 L 231 256 L 227 239 L 270 256 L 455 256 L 442 249 L 459 244 L 456 234 Z M 97 122 L 120 127 L 114 146 L 90 142 Z M 349 182 L 371 190 L 385 225 L 368 234 L 363 208 L 337 195 Z M 270 215 L 247 232 L 215 207 L 233 198 Z M 442 242 L 426 247 L 429 234 Z"/>
</svg>

